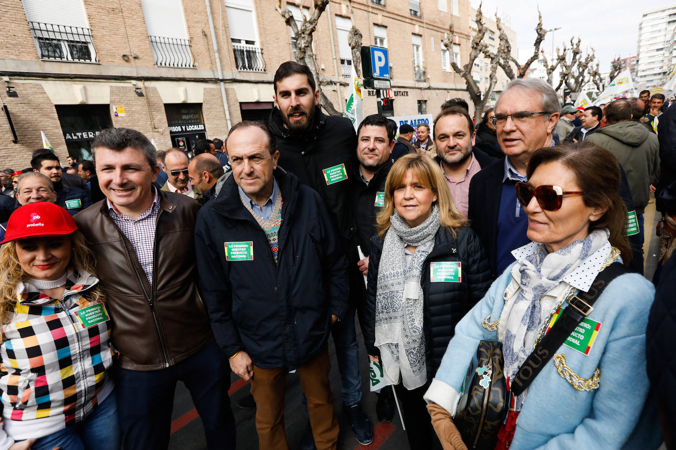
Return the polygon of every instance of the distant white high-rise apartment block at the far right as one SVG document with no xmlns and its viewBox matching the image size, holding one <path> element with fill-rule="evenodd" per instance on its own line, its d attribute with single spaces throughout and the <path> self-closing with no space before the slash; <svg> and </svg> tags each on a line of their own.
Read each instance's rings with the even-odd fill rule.
<svg viewBox="0 0 676 450">
<path fill-rule="evenodd" d="M 637 88 L 652 90 L 664 86 L 671 63 L 667 52 L 675 28 L 676 5 L 643 13 L 638 26 Z"/>
</svg>

